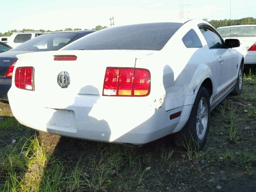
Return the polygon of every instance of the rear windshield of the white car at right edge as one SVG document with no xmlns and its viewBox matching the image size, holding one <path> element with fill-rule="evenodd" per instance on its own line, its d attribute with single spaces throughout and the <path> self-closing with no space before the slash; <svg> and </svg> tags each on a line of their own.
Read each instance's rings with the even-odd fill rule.
<svg viewBox="0 0 256 192">
<path fill-rule="evenodd" d="M 217 29 L 222 37 L 256 37 L 256 26 L 230 27 Z"/>
</svg>

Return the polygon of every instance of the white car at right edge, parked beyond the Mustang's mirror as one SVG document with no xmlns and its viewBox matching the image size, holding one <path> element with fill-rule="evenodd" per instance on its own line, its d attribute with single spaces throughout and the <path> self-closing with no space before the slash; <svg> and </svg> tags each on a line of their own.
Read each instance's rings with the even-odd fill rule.
<svg viewBox="0 0 256 192">
<path fill-rule="evenodd" d="M 256 25 L 219 27 L 217 31 L 225 39 L 236 38 L 241 46 L 236 48 L 244 55 L 244 65 L 256 64 Z"/>
</svg>

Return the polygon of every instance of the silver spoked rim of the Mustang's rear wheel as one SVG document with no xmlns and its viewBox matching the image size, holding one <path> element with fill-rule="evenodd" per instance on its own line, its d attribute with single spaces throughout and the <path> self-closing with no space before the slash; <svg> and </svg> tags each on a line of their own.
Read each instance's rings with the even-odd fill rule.
<svg viewBox="0 0 256 192">
<path fill-rule="evenodd" d="M 196 133 L 199 140 L 202 140 L 204 138 L 206 128 L 208 123 L 208 103 L 206 98 L 201 98 L 198 110 L 197 110 L 197 116 L 196 116 Z"/>
</svg>

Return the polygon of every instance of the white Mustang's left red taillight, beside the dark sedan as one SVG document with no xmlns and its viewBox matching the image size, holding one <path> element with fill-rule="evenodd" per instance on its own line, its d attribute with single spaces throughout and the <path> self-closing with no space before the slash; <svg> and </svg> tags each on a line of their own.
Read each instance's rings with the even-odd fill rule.
<svg viewBox="0 0 256 192">
<path fill-rule="evenodd" d="M 18 67 L 15 71 L 15 86 L 20 89 L 33 90 L 33 67 Z"/>
</svg>

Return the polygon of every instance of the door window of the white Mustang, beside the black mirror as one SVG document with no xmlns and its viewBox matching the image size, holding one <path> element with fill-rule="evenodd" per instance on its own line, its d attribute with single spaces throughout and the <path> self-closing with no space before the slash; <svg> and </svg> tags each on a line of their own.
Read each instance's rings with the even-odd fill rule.
<svg viewBox="0 0 256 192">
<path fill-rule="evenodd" d="M 223 40 L 208 28 L 199 28 L 210 49 L 226 48 Z"/>
</svg>

